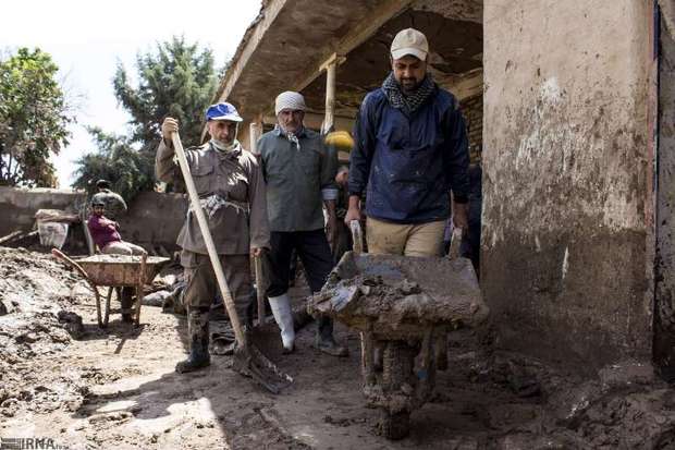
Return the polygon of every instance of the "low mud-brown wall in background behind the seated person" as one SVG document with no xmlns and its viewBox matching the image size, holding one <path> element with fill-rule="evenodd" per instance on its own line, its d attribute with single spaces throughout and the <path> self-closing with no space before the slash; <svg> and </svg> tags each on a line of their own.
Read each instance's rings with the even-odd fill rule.
<svg viewBox="0 0 675 450">
<path fill-rule="evenodd" d="M 0 187 L 0 210 L 2 210 L 0 236 L 17 229 L 25 231 L 33 229 L 35 212 L 38 209 L 76 211 L 83 202 L 85 202 L 83 192 Z M 124 240 L 140 244 L 148 250 L 160 245 L 168 251 L 177 248 L 175 239 L 187 210 L 184 195 L 144 192 L 128 205 L 128 208 L 126 216 L 119 220 Z M 84 234 L 81 239 L 84 240 Z"/>
</svg>

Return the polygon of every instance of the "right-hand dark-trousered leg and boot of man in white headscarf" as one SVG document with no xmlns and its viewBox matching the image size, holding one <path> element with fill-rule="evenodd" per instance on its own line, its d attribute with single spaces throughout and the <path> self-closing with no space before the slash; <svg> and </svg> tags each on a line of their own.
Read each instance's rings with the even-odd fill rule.
<svg viewBox="0 0 675 450">
<path fill-rule="evenodd" d="M 323 230 L 298 231 L 295 233 L 297 253 L 305 267 L 311 292 L 319 292 L 328 275 L 333 269 L 333 257 Z M 346 348 L 340 346 L 333 339 L 333 320 L 319 317 L 317 320 L 317 348 L 335 356 L 345 356 Z"/>
</svg>

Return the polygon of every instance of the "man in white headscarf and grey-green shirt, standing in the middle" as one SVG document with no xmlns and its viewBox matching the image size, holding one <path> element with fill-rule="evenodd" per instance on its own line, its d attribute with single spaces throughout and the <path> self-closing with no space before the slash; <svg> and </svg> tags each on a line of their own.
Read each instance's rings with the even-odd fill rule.
<svg viewBox="0 0 675 450">
<path fill-rule="evenodd" d="M 294 350 L 295 342 L 287 293 L 291 253 L 295 250 L 300 257 L 312 292 L 321 289 L 333 267 L 322 209 L 326 206 L 328 232 L 333 233 L 338 157 L 318 133 L 304 126 L 305 109 L 300 94 L 280 94 L 274 107 L 277 127 L 258 141 L 272 247 L 267 295 L 286 353 Z M 347 354 L 335 343 L 333 324 L 327 317 L 319 318 L 316 346 L 335 356 Z"/>
</svg>

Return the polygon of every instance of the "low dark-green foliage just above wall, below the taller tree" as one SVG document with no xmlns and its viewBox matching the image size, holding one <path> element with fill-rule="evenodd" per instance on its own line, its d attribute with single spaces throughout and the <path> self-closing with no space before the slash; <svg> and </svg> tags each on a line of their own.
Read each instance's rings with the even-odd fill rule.
<svg viewBox="0 0 675 450">
<path fill-rule="evenodd" d="M 87 129 L 97 146 L 76 161 L 74 187 L 96 193 L 96 181 L 110 180 L 112 190 L 131 199 L 155 185 L 154 160 L 148 151 L 138 151 L 126 136 L 103 133 L 98 127 Z"/>
</svg>

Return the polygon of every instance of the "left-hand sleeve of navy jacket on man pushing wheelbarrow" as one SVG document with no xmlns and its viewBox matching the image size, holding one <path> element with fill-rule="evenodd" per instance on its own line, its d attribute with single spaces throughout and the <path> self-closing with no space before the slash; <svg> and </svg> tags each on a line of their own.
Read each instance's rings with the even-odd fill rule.
<svg viewBox="0 0 675 450">
<path fill-rule="evenodd" d="M 354 149 L 349 155 L 349 195 L 361 195 L 368 184 L 375 153 L 375 101 L 367 95 L 354 124 Z"/>
</svg>

